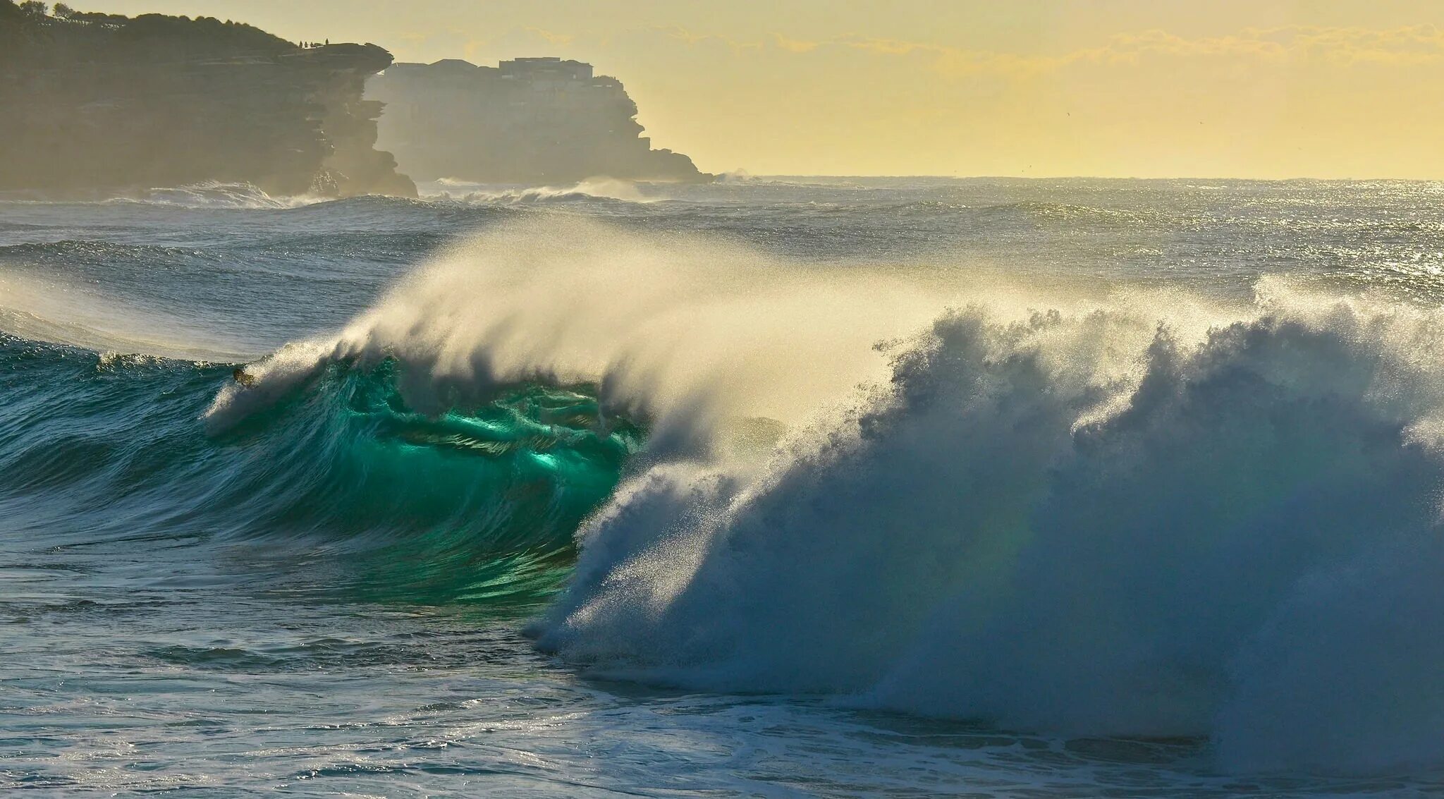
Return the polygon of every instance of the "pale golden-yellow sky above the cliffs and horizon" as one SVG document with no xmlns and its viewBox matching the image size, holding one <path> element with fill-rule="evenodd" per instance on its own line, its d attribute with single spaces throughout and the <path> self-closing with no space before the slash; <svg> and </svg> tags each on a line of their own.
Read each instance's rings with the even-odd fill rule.
<svg viewBox="0 0 1444 799">
<path fill-rule="evenodd" d="M 709 172 L 1444 179 L 1444 0 L 74 0 L 615 75 Z"/>
</svg>

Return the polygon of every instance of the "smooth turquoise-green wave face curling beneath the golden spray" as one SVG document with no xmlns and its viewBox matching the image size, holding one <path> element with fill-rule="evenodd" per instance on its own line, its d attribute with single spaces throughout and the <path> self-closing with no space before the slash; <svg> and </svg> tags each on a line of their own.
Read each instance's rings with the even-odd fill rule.
<svg viewBox="0 0 1444 799">
<path fill-rule="evenodd" d="M 306 575 L 297 591 L 549 597 L 643 431 L 602 419 L 586 386 L 419 413 L 397 389 L 404 368 L 332 364 L 206 436 L 199 416 L 230 366 L 0 341 L 0 504 L 58 545 L 230 542 Z"/>
</svg>

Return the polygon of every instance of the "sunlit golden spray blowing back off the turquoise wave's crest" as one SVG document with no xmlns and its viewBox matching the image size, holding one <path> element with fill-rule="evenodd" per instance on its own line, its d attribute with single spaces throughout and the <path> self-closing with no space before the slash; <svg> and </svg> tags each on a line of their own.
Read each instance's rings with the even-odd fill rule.
<svg viewBox="0 0 1444 799">
<path fill-rule="evenodd" d="M 409 367 L 401 392 L 413 407 L 529 380 L 595 383 L 605 406 L 651 422 L 654 452 L 706 445 L 719 425 L 801 422 L 882 377 L 872 345 L 939 308 L 921 280 L 851 277 L 580 218 L 504 224 L 440 254 L 339 334 L 254 364 L 258 392 L 228 387 L 206 419 L 224 428 L 326 363 L 394 357 Z"/>
</svg>

